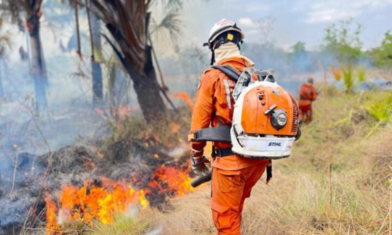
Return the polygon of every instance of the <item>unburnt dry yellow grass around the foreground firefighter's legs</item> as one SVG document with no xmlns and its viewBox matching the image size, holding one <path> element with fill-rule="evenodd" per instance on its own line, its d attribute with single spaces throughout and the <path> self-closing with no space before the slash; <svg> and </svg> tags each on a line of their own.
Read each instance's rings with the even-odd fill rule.
<svg viewBox="0 0 392 235">
<path fill-rule="evenodd" d="M 315 121 L 303 127 L 292 156 L 275 161 L 270 186 L 262 179 L 245 202 L 243 234 L 392 233 L 391 125 L 380 126 L 365 140 L 376 121 L 364 111 L 364 104 L 376 100 L 377 95 L 346 94 L 333 89 L 330 92 L 333 93 L 328 105 L 330 123 L 321 122 L 324 113 L 318 103 L 322 104 L 321 98 L 315 103 Z M 333 155 L 333 196 L 329 209 L 326 128 L 332 133 Z M 164 211 L 153 213 L 149 229 L 155 228 L 158 234 L 216 234 L 209 209 L 209 190 L 209 185 L 205 185 L 192 194 L 171 199 Z"/>
</svg>

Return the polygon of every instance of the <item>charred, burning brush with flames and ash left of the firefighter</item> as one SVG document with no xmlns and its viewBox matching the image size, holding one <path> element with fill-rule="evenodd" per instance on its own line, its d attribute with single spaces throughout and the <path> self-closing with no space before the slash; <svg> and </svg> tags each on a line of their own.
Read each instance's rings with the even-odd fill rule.
<svg viewBox="0 0 392 235">
<path fill-rule="evenodd" d="M 158 214 L 156 209 L 169 198 L 192 191 L 186 141 L 189 115 L 187 109 L 169 113 L 151 126 L 137 118 L 119 119 L 106 140 L 79 141 L 34 156 L 39 180 L 18 178 L 15 199 L 10 199 L 31 213 L 25 223 L 21 218 L 4 231 L 23 226 L 21 233 L 30 234 L 39 231 L 40 223 L 47 234 L 113 234 L 111 225 L 119 231 L 131 229 L 128 234 L 147 231 L 149 218 L 141 215 Z M 1 197 L 2 203 L 8 200 Z"/>
</svg>

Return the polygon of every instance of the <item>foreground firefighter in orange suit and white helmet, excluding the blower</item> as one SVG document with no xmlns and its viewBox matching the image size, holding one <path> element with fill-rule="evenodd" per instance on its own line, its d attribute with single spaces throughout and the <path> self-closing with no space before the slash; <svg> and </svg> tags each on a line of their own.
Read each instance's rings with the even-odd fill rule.
<svg viewBox="0 0 392 235">
<path fill-rule="evenodd" d="M 227 19 L 218 21 L 210 32 L 208 43 L 212 50 L 212 64 L 230 65 L 237 71 L 254 66 L 240 54 L 244 35 L 236 23 Z M 221 71 L 208 68 L 200 79 L 196 103 L 192 112 L 191 133 L 203 128 L 231 125 L 234 100 L 234 80 Z M 241 234 L 241 212 L 245 198 L 261 178 L 268 160 L 242 158 L 232 153 L 228 142 L 214 142 L 212 161 L 212 218 L 218 234 Z M 207 173 L 207 158 L 203 157 L 205 142 L 192 142 L 191 159 L 194 171 Z"/>
</svg>

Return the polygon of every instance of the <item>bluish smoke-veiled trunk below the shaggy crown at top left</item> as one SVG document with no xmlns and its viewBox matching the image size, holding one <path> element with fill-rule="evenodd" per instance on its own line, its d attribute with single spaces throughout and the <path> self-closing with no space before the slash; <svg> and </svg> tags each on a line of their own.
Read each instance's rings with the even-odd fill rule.
<svg viewBox="0 0 392 235">
<path fill-rule="evenodd" d="M 31 45 L 31 75 L 34 79 L 35 102 L 38 111 L 46 109 L 48 104 L 46 100 L 46 86 L 48 79 L 45 71 L 44 55 L 42 53 L 41 39 L 39 38 L 39 16 L 30 17 L 29 34 Z"/>
</svg>

